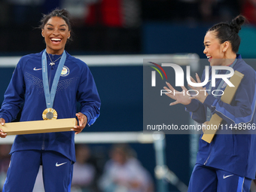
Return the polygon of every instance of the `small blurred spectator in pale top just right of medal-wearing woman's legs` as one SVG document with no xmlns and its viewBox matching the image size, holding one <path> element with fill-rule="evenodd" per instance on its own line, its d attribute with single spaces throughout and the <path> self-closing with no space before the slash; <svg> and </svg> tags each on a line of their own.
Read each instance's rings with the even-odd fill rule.
<svg viewBox="0 0 256 192">
<path fill-rule="evenodd" d="M 90 192 L 92 190 L 93 180 L 96 175 L 96 169 L 88 163 L 90 158 L 90 149 L 87 145 L 76 145 L 76 162 L 72 179 L 72 192 Z"/>
</svg>

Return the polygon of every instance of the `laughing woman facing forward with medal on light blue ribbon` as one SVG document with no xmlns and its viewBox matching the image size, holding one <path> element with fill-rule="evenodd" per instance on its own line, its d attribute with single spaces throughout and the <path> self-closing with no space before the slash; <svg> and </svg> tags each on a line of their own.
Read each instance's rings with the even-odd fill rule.
<svg viewBox="0 0 256 192">
<path fill-rule="evenodd" d="M 46 192 L 70 191 L 75 163 L 75 134 L 99 117 L 100 99 L 88 66 L 66 52 L 71 24 L 66 10 L 54 10 L 41 20 L 46 49 L 23 56 L 14 70 L 0 110 L 0 123 L 78 117 L 70 132 L 16 136 L 3 191 L 33 190 L 39 166 L 43 168 Z M 81 111 L 76 114 L 76 103 Z M 0 130 L 2 131 L 2 130 Z M 6 137 L 1 133 L 2 138 Z"/>
</svg>

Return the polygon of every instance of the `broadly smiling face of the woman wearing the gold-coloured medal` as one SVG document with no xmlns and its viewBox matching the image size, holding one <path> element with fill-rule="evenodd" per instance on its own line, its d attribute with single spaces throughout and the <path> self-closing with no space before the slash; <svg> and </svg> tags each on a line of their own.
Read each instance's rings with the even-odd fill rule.
<svg viewBox="0 0 256 192">
<path fill-rule="evenodd" d="M 61 55 L 70 37 L 70 30 L 61 17 L 51 17 L 44 25 L 41 35 L 44 37 L 47 53 Z"/>
</svg>

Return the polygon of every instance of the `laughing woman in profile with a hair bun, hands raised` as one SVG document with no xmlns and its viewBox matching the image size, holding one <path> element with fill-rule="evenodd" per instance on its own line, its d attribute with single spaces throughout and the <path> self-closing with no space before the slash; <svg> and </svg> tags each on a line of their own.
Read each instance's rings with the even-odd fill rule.
<svg viewBox="0 0 256 192">
<path fill-rule="evenodd" d="M 230 23 L 217 23 L 206 32 L 203 53 L 210 64 L 209 73 L 207 76 L 203 72 L 201 79 L 196 74 L 196 80 L 191 78 L 191 81 L 208 83 L 204 87 L 189 85 L 193 90 L 206 90 L 206 94 L 184 96 L 173 94 L 178 92 L 169 83 L 164 87 L 172 90 L 172 93 L 166 94 L 175 99 L 170 105 L 183 104 L 197 123 L 208 125 L 212 116 L 218 114 L 222 119 L 220 127 L 227 127 L 219 128 L 212 142 L 202 139 L 203 132 L 207 134 L 207 126 L 203 130 L 187 192 L 249 192 L 251 179 L 255 178 L 256 136 L 251 126 L 256 123 L 256 72 L 238 54 L 239 31 L 243 23 L 245 17 L 239 15 Z M 212 70 L 215 66 L 229 67 L 244 75 L 239 86 L 236 85 L 236 94 L 230 104 L 223 102 L 218 93 L 220 90 L 226 92 L 227 84 L 218 78 L 216 86 L 213 86 Z M 227 71 L 218 70 L 215 74 L 226 75 Z M 182 90 L 187 91 L 185 87 Z M 243 129 L 236 129 L 236 126 L 243 126 Z"/>
</svg>

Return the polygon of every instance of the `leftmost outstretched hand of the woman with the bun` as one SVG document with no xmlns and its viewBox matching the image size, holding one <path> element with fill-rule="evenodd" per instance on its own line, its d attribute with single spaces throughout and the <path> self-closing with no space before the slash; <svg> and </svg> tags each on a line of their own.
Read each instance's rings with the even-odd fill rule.
<svg viewBox="0 0 256 192">
<path fill-rule="evenodd" d="M 170 105 L 176 105 L 178 103 L 181 103 L 183 105 L 188 105 L 191 102 L 191 96 L 187 95 L 187 89 L 186 87 L 181 87 L 182 92 L 179 92 L 178 90 L 175 90 L 171 84 L 166 82 L 166 85 L 169 87 L 163 87 L 165 90 L 171 90 L 170 93 L 166 93 L 166 96 L 169 96 L 172 99 L 175 99 L 175 102 L 171 102 Z"/>
</svg>

